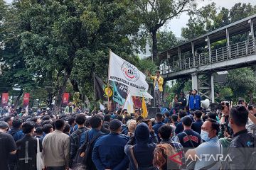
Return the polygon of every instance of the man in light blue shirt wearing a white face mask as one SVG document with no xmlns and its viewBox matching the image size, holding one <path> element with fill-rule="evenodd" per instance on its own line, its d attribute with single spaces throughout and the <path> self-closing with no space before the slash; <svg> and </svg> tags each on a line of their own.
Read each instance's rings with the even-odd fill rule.
<svg viewBox="0 0 256 170">
<path fill-rule="evenodd" d="M 194 149 L 188 149 L 185 154 L 186 159 L 193 159 L 193 161 L 196 161 L 194 169 L 220 168 L 220 160 L 218 160 L 218 155 L 222 154 L 222 147 L 217 136 L 219 130 L 220 125 L 216 120 L 207 119 L 203 123 L 201 127 L 201 138 L 205 142 Z"/>
</svg>

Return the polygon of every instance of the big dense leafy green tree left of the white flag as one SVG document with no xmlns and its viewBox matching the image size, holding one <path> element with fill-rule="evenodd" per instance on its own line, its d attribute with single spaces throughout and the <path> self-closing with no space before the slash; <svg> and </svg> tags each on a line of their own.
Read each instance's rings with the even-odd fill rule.
<svg viewBox="0 0 256 170">
<path fill-rule="evenodd" d="M 68 80 L 75 92 L 92 95 L 93 72 L 106 77 L 109 49 L 129 60 L 125 1 L 16 1 L 21 21 L 21 52 L 38 79 L 53 81 L 55 111 Z M 129 27 L 130 26 L 130 27 Z"/>
</svg>

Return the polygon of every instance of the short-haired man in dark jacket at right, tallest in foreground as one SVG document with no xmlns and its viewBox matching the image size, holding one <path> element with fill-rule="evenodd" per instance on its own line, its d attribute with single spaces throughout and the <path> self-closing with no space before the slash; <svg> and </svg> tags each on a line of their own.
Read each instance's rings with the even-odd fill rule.
<svg viewBox="0 0 256 170">
<path fill-rule="evenodd" d="M 245 106 L 239 105 L 230 110 L 229 124 L 234 135 L 228 147 L 228 155 L 225 169 L 255 169 L 255 159 L 252 155 L 255 152 L 255 138 L 247 132 L 245 125 L 248 120 L 248 111 Z M 239 149 L 238 149 L 239 148 Z"/>
</svg>

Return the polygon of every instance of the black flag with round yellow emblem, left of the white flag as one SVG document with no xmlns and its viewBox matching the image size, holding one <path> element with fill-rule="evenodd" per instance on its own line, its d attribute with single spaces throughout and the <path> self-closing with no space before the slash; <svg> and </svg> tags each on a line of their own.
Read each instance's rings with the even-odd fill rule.
<svg viewBox="0 0 256 170">
<path fill-rule="evenodd" d="M 94 77 L 94 84 L 95 84 L 95 100 L 98 101 L 102 99 L 103 101 L 107 101 L 107 95 L 112 97 L 113 91 L 111 87 L 107 87 L 107 83 L 102 81 L 100 77 L 95 75 Z"/>
</svg>

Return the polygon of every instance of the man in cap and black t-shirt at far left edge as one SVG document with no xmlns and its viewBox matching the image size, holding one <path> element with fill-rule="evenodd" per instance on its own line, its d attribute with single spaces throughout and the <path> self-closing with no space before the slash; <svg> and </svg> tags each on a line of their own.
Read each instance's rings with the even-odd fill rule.
<svg viewBox="0 0 256 170">
<path fill-rule="evenodd" d="M 8 155 L 16 154 L 16 145 L 14 142 L 14 138 L 10 134 L 6 133 L 8 130 L 8 123 L 0 121 L 0 167 L 3 170 L 9 169 Z"/>
</svg>

